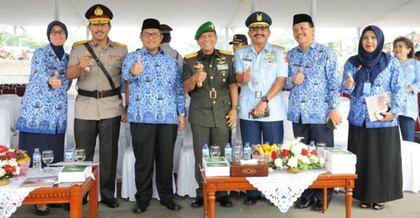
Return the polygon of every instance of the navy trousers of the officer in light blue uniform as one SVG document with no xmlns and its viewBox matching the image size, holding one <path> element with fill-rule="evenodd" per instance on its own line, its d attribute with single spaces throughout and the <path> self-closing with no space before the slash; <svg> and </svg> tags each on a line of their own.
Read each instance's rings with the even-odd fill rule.
<svg viewBox="0 0 420 218">
<path fill-rule="evenodd" d="M 241 125 L 242 144 L 261 144 L 268 142 L 270 145 L 283 143 L 283 121 L 259 122 L 253 120 L 239 119 Z M 262 132 L 262 140 L 261 140 Z M 246 196 L 260 196 L 261 191 L 246 191 Z"/>
</svg>

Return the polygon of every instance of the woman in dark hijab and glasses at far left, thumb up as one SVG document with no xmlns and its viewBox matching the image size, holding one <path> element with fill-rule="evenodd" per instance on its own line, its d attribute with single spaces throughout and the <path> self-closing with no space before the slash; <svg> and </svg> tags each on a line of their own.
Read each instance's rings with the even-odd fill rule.
<svg viewBox="0 0 420 218">
<path fill-rule="evenodd" d="M 39 151 L 53 150 L 54 162 L 63 161 L 64 134 L 67 124 L 67 91 L 71 80 L 66 78 L 69 54 L 64 53 L 67 28 L 62 22 L 48 25 L 50 43 L 34 52 L 31 75 L 20 107 L 16 124 L 19 148 L 32 157 Z M 35 205 L 36 214 L 48 215 L 47 205 Z"/>
</svg>

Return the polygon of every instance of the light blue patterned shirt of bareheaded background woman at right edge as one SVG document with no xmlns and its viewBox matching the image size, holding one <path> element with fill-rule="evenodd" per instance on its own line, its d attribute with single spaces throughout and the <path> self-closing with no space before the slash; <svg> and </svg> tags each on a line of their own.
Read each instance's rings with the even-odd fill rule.
<svg viewBox="0 0 420 218">
<path fill-rule="evenodd" d="M 420 92 L 420 61 L 416 59 L 409 59 L 409 61 L 400 62 L 402 75 L 403 75 L 403 87 L 412 87 L 413 92 L 406 92 L 407 101 L 405 106 L 402 108 L 402 115 L 405 117 L 411 117 L 416 120 L 418 115 L 418 99 L 417 94 Z"/>
</svg>

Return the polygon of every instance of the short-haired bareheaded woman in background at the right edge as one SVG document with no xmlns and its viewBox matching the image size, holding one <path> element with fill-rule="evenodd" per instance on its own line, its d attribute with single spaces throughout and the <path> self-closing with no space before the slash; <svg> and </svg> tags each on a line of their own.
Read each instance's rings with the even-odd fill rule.
<svg viewBox="0 0 420 218">
<path fill-rule="evenodd" d="M 393 41 L 393 53 L 400 61 L 404 78 L 407 104 L 398 116 L 402 140 L 414 142 L 417 119 L 417 94 L 420 92 L 420 62 L 414 59 L 414 44 L 408 38 L 400 36 Z"/>
</svg>

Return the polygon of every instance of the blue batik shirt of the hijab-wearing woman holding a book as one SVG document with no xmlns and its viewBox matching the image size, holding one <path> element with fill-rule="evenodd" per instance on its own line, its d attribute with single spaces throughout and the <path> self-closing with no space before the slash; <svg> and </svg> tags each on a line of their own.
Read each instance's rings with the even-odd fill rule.
<svg viewBox="0 0 420 218">
<path fill-rule="evenodd" d="M 363 66 L 359 66 L 358 68 L 361 67 Z M 349 117 L 347 117 L 349 124 L 352 124 L 353 126 L 362 126 L 363 121 L 365 121 L 367 128 L 398 126 L 398 115 L 402 113 L 406 96 L 404 87 L 405 75 L 401 71 L 398 60 L 395 57 L 391 57 L 388 66 L 377 75 L 377 78 L 374 79 L 372 86 L 370 87 L 370 93 L 363 93 L 360 97 L 356 98 L 353 94 L 354 86 L 351 87 L 351 89 L 346 89 L 345 83 L 346 79 L 349 77 L 347 73 L 350 73 L 350 75 L 354 78 L 358 68 L 353 66 L 349 60 L 347 60 L 346 64 L 344 64 L 342 92 L 351 95 Z M 389 112 L 393 114 L 394 119 L 391 122 L 371 122 L 369 115 L 367 114 L 365 98 L 367 96 L 374 96 L 386 92 L 391 93 L 392 96 L 391 110 Z"/>
</svg>

